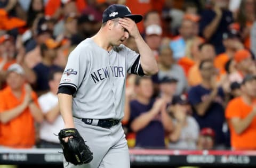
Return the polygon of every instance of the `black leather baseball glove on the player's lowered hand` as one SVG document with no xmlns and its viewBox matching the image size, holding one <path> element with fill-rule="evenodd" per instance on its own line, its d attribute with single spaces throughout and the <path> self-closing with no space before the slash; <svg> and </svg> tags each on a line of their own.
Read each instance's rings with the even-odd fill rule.
<svg viewBox="0 0 256 168">
<path fill-rule="evenodd" d="M 73 138 L 69 138 L 68 142 L 65 142 L 63 139 L 69 136 L 73 136 Z M 84 139 L 79 135 L 77 129 L 62 129 L 58 137 L 67 162 L 74 165 L 82 165 L 92 161 L 92 152 L 85 144 Z"/>
</svg>

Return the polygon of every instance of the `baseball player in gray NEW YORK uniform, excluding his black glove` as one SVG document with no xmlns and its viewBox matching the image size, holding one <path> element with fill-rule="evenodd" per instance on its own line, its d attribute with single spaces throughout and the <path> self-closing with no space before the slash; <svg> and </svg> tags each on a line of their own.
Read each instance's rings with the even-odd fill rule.
<svg viewBox="0 0 256 168">
<path fill-rule="evenodd" d="M 131 14 L 127 6 L 110 5 L 103 12 L 97 34 L 70 53 L 58 90 L 60 112 L 65 128 L 78 130 L 93 159 L 67 167 L 130 167 L 121 125 L 125 78 L 127 73 L 142 76 L 158 71 L 153 52 L 137 28 L 141 20 L 142 16 Z M 122 44 L 129 37 L 134 38 L 139 54 Z M 66 137 L 65 142 L 71 138 Z"/>
</svg>

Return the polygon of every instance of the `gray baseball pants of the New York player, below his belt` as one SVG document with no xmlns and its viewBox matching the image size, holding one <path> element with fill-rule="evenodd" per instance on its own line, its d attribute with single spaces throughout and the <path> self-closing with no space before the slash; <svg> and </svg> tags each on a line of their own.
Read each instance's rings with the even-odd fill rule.
<svg viewBox="0 0 256 168">
<path fill-rule="evenodd" d="M 130 168 L 130 157 L 122 124 L 111 128 L 85 124 L 81 119 L 73 118 L 75 127 L 93 153 L 93 160 L 88 164 L 75 166 L 66 162 L 67 168 Z"/>
</svg>

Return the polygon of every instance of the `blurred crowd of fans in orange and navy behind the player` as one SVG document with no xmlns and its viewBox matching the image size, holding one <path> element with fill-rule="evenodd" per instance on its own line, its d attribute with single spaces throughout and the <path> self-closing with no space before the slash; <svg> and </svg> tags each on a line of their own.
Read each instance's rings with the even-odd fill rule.
<svg viewBox="0 0 256 168">
<path fill-rule="evenodd" d="M 109 4 L 143 15 L 159 65 L 127 75 L 130 148 L 256 149 L 255 0 L 0 0 L 0 148 L 60 147 L 63 69 Z"/>
</svg>

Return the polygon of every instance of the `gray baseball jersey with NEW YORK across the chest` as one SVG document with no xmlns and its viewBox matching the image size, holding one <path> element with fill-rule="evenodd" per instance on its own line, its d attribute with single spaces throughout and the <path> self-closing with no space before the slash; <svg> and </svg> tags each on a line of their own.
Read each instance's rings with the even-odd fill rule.
<svg viewBox="0 0 256 168">
<path fill-rule="evenodd" d="M 138 73 L 139 59 L 139 54 L 124 45 L 107 52 L 91 38 L 82 41 L 70 53 L 59 86 L 76 89 L 73 115 L 87 119 L 122 119 L 126 74 Z"/>
</svg>

